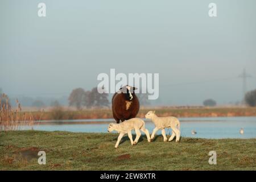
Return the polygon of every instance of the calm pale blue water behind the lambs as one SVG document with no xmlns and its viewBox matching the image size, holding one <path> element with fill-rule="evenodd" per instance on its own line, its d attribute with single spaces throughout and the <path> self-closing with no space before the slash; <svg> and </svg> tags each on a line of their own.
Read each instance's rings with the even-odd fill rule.
<svg viewBox="0 0 256 182">
<path fill-rule="evenodd" d="M 256 138 L 256 117 L 214 117 L 214 118 L 179 118 L 182 137 L 195 138 Z M 146 121 L 146 128 L 152 133 L 154 125 L 150 120 Z M 34 126 L 34 130 L 43 131 L 72 131 L 85 133 L 107 133 L 109 123 L 113 119 L 82 119 L 68 121 L 40 121 Z M 239 133 L 241 127 L 244 134 Z M 23 126 L 22 129 L 31 129 Z M 195 130 L 196 135 L 191 131 Z M 170 134 L 171 130 L 166 129 Z M 160 134 L 160 130 L 158 131 Z"/>
</svg>

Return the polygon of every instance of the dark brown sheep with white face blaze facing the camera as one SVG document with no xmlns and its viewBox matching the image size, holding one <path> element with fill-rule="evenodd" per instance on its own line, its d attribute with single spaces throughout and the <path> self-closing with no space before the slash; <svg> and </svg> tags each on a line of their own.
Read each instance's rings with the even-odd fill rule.
<svg viewBox="0 0 256 182">
<path fill-rule="evenodd" d="M 113 117 L 117 123 L 135 118 L 139 112 L 139 100 L 132 86 L 126 85 L 119 89 L 112 97 Z"/>
</svg>

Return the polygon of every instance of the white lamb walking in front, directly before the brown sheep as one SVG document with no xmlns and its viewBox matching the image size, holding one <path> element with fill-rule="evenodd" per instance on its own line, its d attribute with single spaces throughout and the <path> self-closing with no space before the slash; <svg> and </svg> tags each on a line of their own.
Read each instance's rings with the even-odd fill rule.
<svg viewBox="0 0 256 182">
<path fill-rule="evenodd" d="M 115 148 L 118 147 L 120 140 L 122 139 L 123 135 L 126 133 L 128 134 L 128 137 L 131 140 L 131 145 L 135 145 L 138 143 L 139 137 L 141 137 L 141 131 L 146 134 L 148 142 L 150 142 L 150 134 L 148 130 L 145 128 L 145 123 L 140 118 L 132 118 L 128 119 L 120 124 L 110 123 L 108 132 L 117 131 L 119 134 L 117 143 L 115 143 Z M 131 130 L 135 130 L 136 138 L 133 141 L 133 135 L 131 135 Z"/>
</svg>

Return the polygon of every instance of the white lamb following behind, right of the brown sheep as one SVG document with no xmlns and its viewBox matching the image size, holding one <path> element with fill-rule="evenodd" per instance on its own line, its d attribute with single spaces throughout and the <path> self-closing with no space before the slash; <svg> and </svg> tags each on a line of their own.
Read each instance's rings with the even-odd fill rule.
<svg viewBox="0 0 256 182">
<path fill-rule="evenodd" d="M 152 122 L 155 124 L 155 129 L 153 130 L 151 134 L 151 140 L 154 139 L 155 133 L 158 130 L 162 130 L 162 135 L 164 138 L 164 142 L 167 142 L 166 137 L 166 131 L 164 129 L 171 128 L 172 129 L 172 135 L 169 138 L 169 142 L 171 142 L 172 139 L 174 139 L 176 135 L 176 142 L 180 140 L 180 122 L 179 119 L 175 117 L 158 117 L 155 114 L 155 111 L 148 111 L 148 113 L 145 115 L 147 119 L 151 119 Z"/>
</svg>

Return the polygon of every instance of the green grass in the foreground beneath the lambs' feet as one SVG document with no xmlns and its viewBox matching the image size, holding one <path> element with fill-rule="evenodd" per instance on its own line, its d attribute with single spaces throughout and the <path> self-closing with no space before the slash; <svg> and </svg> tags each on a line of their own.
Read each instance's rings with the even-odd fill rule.
<svg viewBox="0 0 256 182">
<path fill-rule="evenodd" d="M 0 170 L 256 170 L 256 139 L 181 138 L 148 143 L 142 136 L 136 146 L 118 134 L 63 131 L 0 132 Z M 135 136 L 133 136 L 135 138 Z M 38 151 L 46 152 L 39 165 Z M 217 165 L 209 165 L 209 151 L 217 152 Z"/>
</svg>

